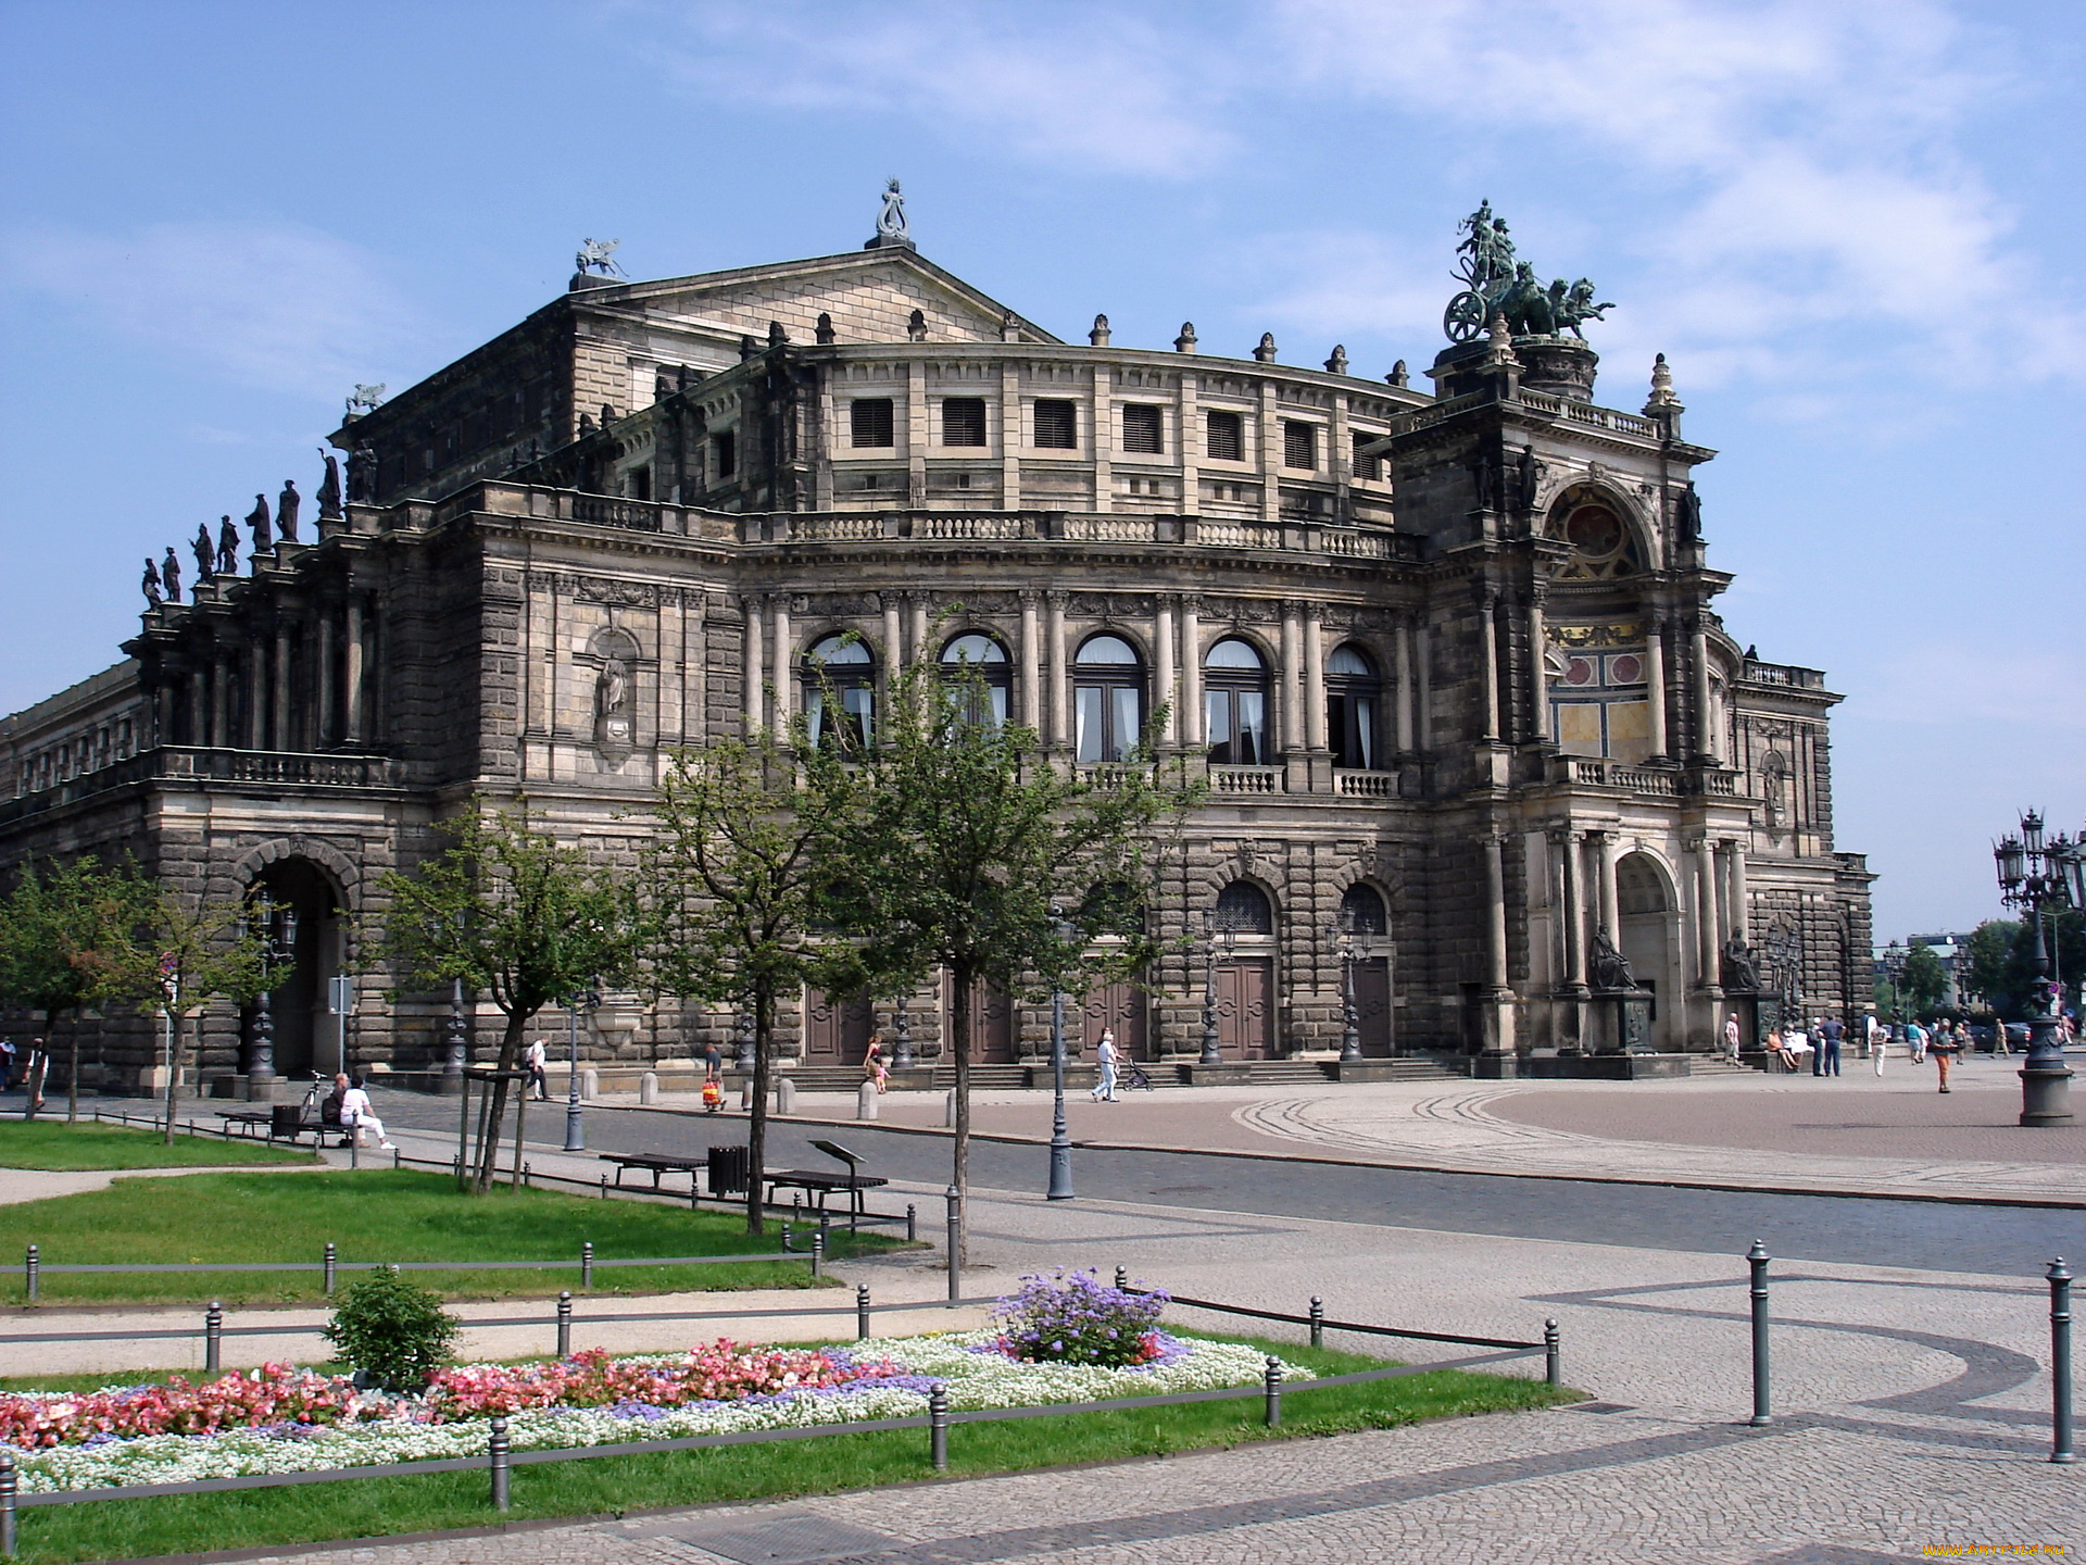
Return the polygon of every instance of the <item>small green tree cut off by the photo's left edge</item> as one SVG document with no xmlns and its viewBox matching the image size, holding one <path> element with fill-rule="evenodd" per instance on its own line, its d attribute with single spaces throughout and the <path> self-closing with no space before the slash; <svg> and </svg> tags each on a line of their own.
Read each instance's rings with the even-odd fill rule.
<svg viewBox="0 0 2086 1565">
<path fill-rule="evenodd" d="M 136 922 L 154 885 L 136 868 L 104 868 L 92 853 L 71 864 L 21 868 L 0 901 L 0 993 L 46 1014 L 56 1033 L 71 1016 L 65 1118 L 79 1118 L 79 1014 L 104 1000 L 96 956 L 113 931 Z"/>
</svg>

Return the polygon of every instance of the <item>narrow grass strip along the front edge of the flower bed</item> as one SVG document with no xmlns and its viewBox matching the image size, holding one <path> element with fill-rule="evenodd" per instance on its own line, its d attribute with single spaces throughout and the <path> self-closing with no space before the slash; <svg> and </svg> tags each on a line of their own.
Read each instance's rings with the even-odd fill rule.
<svg viewBox="0 0 2086 1565">
<path fill-rule="evenodd" d="M 1237 1342 L 1239 1338 L 1227 1338 Z M 1383 1361 L 1264 1344 L 1323 1375 L 1377 1369 Z M 949 1429 L 949 1475 L 970 1477 L 1072 1463 L 1158 1456 L 1421 1419 L 1577 1402 L 1585 1394 L 1539 1379 L 1446 1369 L 1410 1379 L 1333 1386 L 1291 1381 L 1283 1427 L 1260 1423 L 1260 1400 L 1197 1402 L 1124 1413 L 1068 1413 Z M 653 1507 L 834 1494 L 932 1477 L 926 1429 L 834 1434 L 772 1446 L 722 1446 L 657 1456 L 601 1456 L 513 1471 L 509 1519 L 620 1515 Z M 163 1500 L 98 1500 L 21 1513 L 23 1561 L 92 1561 L 209 1548 L 271 1548 L 330 1538 L 371 1538 L 494 1521 L 484 1473 L 307 1484 Z M 980 1527 L 991 1519 L 980 1517 Z"/>
</svg>

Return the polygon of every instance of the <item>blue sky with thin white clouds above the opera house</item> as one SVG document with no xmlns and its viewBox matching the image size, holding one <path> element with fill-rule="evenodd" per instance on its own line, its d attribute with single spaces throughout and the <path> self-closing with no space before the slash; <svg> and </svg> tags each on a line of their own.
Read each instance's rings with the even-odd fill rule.
<svg viewBox="0 0 2086 1565">
<path fill-rule="evenodd" d="M 1062 336 L 1441 342 L 1489 196 L 1673 361 L 1721 607 L 1825 668 L 1877 926 L 2086 820 L 2076 4 L 0 4 L 0 709 L 106 666 L 148 551 L 563 288 L 855 248 Z"/>
</svg>

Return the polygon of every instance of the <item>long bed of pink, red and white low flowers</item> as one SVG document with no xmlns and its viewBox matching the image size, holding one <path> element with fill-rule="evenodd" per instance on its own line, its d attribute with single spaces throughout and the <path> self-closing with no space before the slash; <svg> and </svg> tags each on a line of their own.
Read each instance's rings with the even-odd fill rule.
<svg viewBox="0 0 2086 1565">
<path fill-rule="evenodd" d="M 0 1396 L 0 1440 L 23 1448 L 23 1490 L 94 1490 L 478 1456 L 492 1413 L 507 1415 L 515 1450 L 544 1450 L 918 1417 L 935 1386 L 970 1411 L 1250 1386 L 1266 1367 L 1233 1342 L 1154 1331 L 1151 1348 L 1147 1363 L 1106 1369 L 1022 1363 L 997 1329 L 820 1350 L 715 1342 L 672 1356 L 465 1365 L 413 1398 L 269 1365 L 204 1386 Z"/>
</svg>

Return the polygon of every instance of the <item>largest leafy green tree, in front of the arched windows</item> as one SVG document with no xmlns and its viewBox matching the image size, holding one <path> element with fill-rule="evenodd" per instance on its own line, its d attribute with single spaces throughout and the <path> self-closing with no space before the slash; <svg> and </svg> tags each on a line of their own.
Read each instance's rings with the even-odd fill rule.
<svg viewBox="0 0 2086 1565">
<path fill-rule="evenodd" d="M 1056 766 L 1035 730 L 991 720 L 968 666 L 914 664 L 887 707 L 859 753 L 864 826 L 834 860 L 832 920 L 859 937 L 878 993 L 949 974 L 962 1194 L 976 987 L 1041 997 L 1056 981 L 1085 993 L 1143 970 L 1160 949 L 1145 910 L 1174 841 L 1164 824 L 1195 789 L 1168 785 L 1145 753 Z"/>
</svg>

